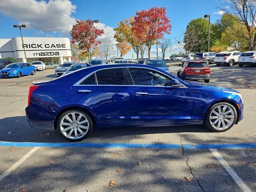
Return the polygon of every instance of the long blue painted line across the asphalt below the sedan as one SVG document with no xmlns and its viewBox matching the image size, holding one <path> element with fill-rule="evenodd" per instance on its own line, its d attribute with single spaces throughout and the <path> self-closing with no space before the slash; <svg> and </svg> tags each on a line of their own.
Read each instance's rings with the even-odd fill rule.
<svg viewBox="0 0 256 192">
<path fill-rule="evenodd" d="M 180 149 L 180 144 L 136 144 L 136 143 L 38 143 L 38 142 L 0 142 L 0 146 L 16 147 L 90 147 L 90 148 L 146 148 Z M 256 143 L 242 144 L 184 144 L 184 149 L 256 149 Z"/>
</svg>

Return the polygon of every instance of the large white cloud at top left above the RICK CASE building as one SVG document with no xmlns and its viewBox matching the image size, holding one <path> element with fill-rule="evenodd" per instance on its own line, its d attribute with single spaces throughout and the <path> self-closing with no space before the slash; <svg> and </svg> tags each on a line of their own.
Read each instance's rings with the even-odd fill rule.
<svg viewBox="0 0 256 192">
<path fill-rule="evenodd" d="M 67 33 L 71 30 L 75 18 L 71 16 L 76 10 L 69 0 L 1 0 L 0 12 L 43 32 Z"/>
</svg>

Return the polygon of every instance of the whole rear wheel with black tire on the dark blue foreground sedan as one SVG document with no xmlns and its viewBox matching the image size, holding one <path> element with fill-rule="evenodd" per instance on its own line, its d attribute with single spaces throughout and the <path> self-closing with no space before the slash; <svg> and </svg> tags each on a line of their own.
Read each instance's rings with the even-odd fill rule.
<svg viewBox="0 0 256 192">
<path fill-rule="evenodd" d="M 73 119 L 73 114 L 75 114 L 76 120 L 78 120 L 79 116 L 82 115 L 82 117 L 80 118 L 78 123 L 77 122 L 74 123 L 75 121 Z M 72 120 L 72 123 L 70 123 L 70 121 L 67 120 L 65 117 L 70 118 L 70 120 Z M 87 120 L 87 122 L 79 124 L 86 120 Z M 63 125 L 63 124 L 61 125 L 61 123 L 64 123 L 64 124 L 66 123 L 66 125 Z M 82 126 L 83 126 L 83 128 L 82 128 Z M 66 128 L 69 128 L 69 129 L 67 129 L 67 131 L 64 131 Z M 58 122 L 57 122 L 57 130 L 58 130 L 59 134 L 66 140 L 73 141 L 73 142 L 81 141 L 81 140 L 85 139 L 92 132 L 92 128 L 93 128 L 92 119 L 86 112 L 84 112 L 82 110 L 66 111 L 60 115 L 60 117 L 58 118 Z M 83 132 L 84 136 L 83 136 L 82 132 L 80 132 L 80 130 Z M 71 132 L 71 134 L 70 134 L 70 132 Z M 75 132 L 77 133 L 77 138 L 75 136 Z M 69 134 L 70 134 L 70 136 L 69 136 Z"/>
</svg>

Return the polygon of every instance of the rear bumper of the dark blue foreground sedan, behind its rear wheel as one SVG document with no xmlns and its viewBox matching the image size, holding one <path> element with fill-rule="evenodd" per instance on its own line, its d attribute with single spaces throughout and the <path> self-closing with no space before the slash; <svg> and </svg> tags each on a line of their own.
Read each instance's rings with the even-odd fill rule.
<svg viewBox="0 0 256 192">
<path fill-rule="evenodd" d="M 37 114 L 35 110 L 31 109 L 29 106 L 26 107 L 26 118 L 28 123 L 32 128 L 52 130 L 54 131 L 54 119 L 43 118 L 40 114 Z"/>
</svg>

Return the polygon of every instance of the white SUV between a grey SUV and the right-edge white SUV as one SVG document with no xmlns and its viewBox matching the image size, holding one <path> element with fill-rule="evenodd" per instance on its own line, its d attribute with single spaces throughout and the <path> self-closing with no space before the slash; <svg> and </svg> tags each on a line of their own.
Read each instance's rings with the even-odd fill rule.
<svg viewBox="0 0 256 192">
<path fill-rule="evenodd" d="M 220 66 L 221 64 L 228 64 L 228 66 L 233 66 L 234 64 L 237 64 L 238 57 L 242 54 L 240 51 L 224 51 L 218 53 L 214 58 L 214 63 L 216 63 L 217 66 Z"/>
</svg>

